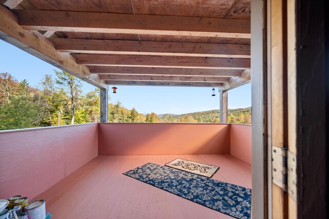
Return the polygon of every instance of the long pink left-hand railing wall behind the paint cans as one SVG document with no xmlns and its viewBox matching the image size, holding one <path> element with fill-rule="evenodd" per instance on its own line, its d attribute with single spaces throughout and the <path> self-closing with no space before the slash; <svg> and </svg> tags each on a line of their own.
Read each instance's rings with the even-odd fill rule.
<svg viewBox="0 0 329 219">
<path fill-rule="evenodd" d="M 0 198 L 32 199 L 98 153 L 98 125 L 0 132 Z"/>
</svg>

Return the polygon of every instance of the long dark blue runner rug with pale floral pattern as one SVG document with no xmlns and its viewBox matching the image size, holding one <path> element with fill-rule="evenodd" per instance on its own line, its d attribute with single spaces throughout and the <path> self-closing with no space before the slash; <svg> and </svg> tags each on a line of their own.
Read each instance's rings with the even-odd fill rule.
<svg viewBox="0 0 329 219">
<path fill-rule="evenodd" d="M 250 218 L 251 189 L 155 163 L 146 163 L 124 175 L 232 217 Z"/>
</svg>

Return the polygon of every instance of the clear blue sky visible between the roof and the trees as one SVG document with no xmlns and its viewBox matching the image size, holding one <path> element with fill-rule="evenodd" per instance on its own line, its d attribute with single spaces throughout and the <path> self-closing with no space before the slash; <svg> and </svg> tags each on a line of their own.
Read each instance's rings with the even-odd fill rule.
<svg viewBox="0 0 329 219">
<path fill-rule="evenodd" d="M 0 72 L 8 72 L 18 81 L 27 79 L 31 86 L 38 83 L 45 74 L 56 77 L 53 70 L 60 70 L 27 52 L 0 40 Z M 84 81 L 83 92 L 95 89 Z M 110 88 L 112 85 L 110 85 Z M 111 103 L 120 100 L 126 108 L 133 107 L 139 113 L 184 114 L 219 108 L 218 89 L 211 96 L 211 87 L 161 87 L 161 86 L 117 86 L 117 94 L 110 90 Z M 242 108 L 251 106 L 251 85 L 229 90 L 228 107 Z"/>
</svg>

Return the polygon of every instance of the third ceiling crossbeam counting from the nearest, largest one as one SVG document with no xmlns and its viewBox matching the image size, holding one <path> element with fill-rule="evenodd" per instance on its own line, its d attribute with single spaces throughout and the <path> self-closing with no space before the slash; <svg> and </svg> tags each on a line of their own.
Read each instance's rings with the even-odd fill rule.
<svg viewBox="0 0 329 219">
<path fill-rule="evenodd" d="M 246 69 L 250 59 L 214 57 L 138 56 L 123 54 L 72 54 L 78 64 L 112 66 L 173 66 Z"/>
</svg>

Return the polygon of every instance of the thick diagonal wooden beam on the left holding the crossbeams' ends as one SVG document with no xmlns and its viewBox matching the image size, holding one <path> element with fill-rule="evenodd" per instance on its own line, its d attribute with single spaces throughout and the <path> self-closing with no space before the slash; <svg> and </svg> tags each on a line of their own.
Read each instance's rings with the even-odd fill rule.
<svg viewBox="0 0 329 219">
<path fill-rule="evenodd" d="M 17 17 L 3 5 L 0 5 L 0 39 L 90 84 L 107 88 L 98 75 L 90 74 L 86 66 L 78 65 L 69 54 L 57 51 L 53 43 L 41 33 L 22 28 Z"/>
</svg>

